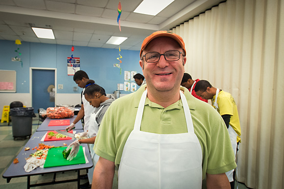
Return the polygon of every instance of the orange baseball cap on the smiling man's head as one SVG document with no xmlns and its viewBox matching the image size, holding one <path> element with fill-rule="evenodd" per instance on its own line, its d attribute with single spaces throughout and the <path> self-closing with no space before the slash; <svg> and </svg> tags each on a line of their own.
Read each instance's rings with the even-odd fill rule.
<svg viewBox="0 0 284 189">
<path fill-rule="evenodd" d="M 169 38 L 174 39 L 176 42 L 178 42 L 181 45 L 182 49 L 185 51 L 185 56 L 187 55 L 185 42 L 179 35 L 174 34 L 170 31 L 156 31 L 152 33 L 151 35 L 149 35 L 148 37 L 146 37 L 144 41 L 142 42 L 142 46 L 140 50 L 140 57 L 141 57 L 142 51 L 146 48 L 147 44 L 149 44 L 149 42 L 151 42 L 153 39 L 158 38 L 158 37 L 169 37 Z"/>
</svg>

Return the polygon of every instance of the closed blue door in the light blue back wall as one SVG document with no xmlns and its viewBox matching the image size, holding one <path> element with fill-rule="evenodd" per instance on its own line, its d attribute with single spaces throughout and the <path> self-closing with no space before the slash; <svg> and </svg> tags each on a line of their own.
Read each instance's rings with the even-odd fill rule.
<svg viewBox="0 0 284 189">
<path fill-rule="evenodd" d="M 55 84 L 55 71 L 47 69 L 32 70 L 32 106 L 37 113 L 39 108 L 54 107 L 54 101 L 50 101 L 47 88 Z"/>
</svg>

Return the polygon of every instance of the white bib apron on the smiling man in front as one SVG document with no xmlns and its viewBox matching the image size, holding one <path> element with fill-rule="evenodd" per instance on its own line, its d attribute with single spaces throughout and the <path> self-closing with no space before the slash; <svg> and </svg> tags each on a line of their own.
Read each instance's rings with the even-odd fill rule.
<svg viewBox="0 0 284 189">
<path fill-rule="evenodd" d="M 202 150 L 186 97 L 182 92 L 180 95 L 188 132 L 156 134 L 140 130 L 147 96 L 144 91 L 134 129 L 123 148 L 118 189 L 201 189 Z"/>
</svg>

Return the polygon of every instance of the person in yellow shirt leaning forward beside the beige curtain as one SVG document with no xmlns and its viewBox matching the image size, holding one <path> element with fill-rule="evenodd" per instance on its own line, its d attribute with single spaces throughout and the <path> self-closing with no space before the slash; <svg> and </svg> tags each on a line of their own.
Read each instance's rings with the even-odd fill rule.
<svg viewBox="0 0 284 189">
<path fill-rule="evenodd" d="M 222 116 L 231 138 L 234 153 L 237 153 L 237 144 L 240 142 L 240 124 L 237 112 L 237 105 L 233 96 L 213 87 L 208 81 L 200 80 L 195 85 L 195 93 L 202 99 L 211 100 L 213 107 Z M 226 172 L 230 181 L 231 189 L 234 189 L 234 169 Z"/>
</svg>

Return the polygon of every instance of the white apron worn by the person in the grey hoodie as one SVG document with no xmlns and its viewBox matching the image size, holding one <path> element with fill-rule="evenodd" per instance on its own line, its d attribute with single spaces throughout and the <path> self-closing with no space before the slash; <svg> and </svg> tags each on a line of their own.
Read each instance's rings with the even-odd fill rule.
<svg viewBox="0 0 284 189">
<path fill-rule="evenodd" d="M 96 133 L 98 131 L 98 123 L 96 122 L 95 118 L 96 118 L 96 115 L 99 114 L 102 108 L 103 106 L 96 113 L 93 112 L 90 116 L 89 131 L 88 131 L 89 138 L 96 136 Z M 91 184 L 93 181 L 93 173 L 94 173 L 95 165 L 98 161 L 99 156 L 95 154 L 94 144 L 88 144 L 88 147 L 90 149 L 90 154 L 91 154 L 92 162 L 94 165 L 93 168 L 90 168 L 88 171 L 88 179 L 89 179 L 89 183 Z"/>
</svg>

